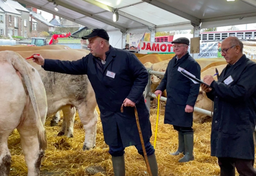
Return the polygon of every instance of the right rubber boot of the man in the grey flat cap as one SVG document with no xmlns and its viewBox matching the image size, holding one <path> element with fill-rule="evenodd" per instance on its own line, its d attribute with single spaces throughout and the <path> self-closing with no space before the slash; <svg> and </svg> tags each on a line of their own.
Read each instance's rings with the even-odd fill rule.
<svg viewBox="0 0 256 176">
<path fill-rule="evenodd" d="M 194 149 L 194 134 L 184 134 L 185 142 L 185 155 L 178 162 L 189 162 L 194 160 L 193 149 Z"/>
</svg>

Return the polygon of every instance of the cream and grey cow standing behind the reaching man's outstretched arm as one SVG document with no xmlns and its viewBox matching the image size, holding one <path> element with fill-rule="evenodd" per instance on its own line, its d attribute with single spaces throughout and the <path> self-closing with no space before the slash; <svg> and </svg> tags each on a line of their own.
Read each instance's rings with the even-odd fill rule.
<svg viewBox="0 0 256 176">
<path fill-rule="evenodd" d="M 24 56 L 34 53 L 34 51 L 17 52 Z M 38 53 L 43 55 L 44 58 L 52 59 L 58 55 L 60 60 L 78 60 L 82 58 L 80 55 L 86 55 L 85 50 L 77 51 L 73 49 L 40 50 Z M 85 131 L 82 148 L 84 150 L 93 148 L 95 146 L 98 115 L 95 110 L 97 105 L 95 94 L 87 75 L 67 75 L 45 71 L 32 60 L 28 60 L 28 62 L 38 70 L 45 85 L 48 103 L 47 116 L 55 114 L 58 110 L 63 112 L 62 129 L 58 135 L 73 137 L 73 121 L 76 109 Z"/>
</svg>

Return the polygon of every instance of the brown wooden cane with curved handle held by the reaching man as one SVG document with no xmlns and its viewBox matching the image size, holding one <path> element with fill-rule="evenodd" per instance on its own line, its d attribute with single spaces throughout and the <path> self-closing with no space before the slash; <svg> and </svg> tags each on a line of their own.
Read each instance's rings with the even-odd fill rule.
<svg viewBox="0 0 256 176">
<path fill-rule="evenodd" d="M 136 108 L 136 106 L 134 108 L 135 108 L 136 123 L 137 123 L 138 131 L 139 131 L 139 138 L 141 140 L 141 146 L 142 146 L 145 162 L 146 162 L 146 165 L 147 165 L 147 168 L 148 168 L 148 174 L 150 176 L 152 176 L 150 163 L 148 162 L 148 155 L 146 153 L 146 148 L 145 148 L 145 144 L 144 144 L 144 140 L 143 140 L 143 136 L 142 136 L 142 132 L 141 132 L 141 125 L 139 125 L 139 116 L 138 116 L 137 108 Z M 121 112 L 124 112 L 124 103 L 121 105 Z"/>
</svg>

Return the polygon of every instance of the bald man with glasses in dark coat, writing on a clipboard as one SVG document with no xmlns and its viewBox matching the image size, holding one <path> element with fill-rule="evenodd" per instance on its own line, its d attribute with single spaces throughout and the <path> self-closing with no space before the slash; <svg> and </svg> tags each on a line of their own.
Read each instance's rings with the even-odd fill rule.
<svg viewBox="0 0 256 176">
<path fill-rule="evenodd" d="M 221 53 L 228 63 L 214 81 L 204 77 L 202 86 L 214 101 L 211 124 L 211 155 L 218 157 L 221 176 L 255 176 L 253 132 L 256 119 L 256 63 L 243 54 L 243 43 L 236 37 L 222 42 Z"/>
</svg>

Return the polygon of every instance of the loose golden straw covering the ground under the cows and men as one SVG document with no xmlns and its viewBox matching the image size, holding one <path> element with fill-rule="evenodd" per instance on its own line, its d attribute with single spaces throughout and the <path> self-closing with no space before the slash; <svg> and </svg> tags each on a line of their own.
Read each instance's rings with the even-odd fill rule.
<svg viewBox="0 0 256 176">
<path fill-rule="evenodd" d="M 152 138 L 156 127 L 155 108 L 150 109 L 150 121 L 152 123 Z M 187 163 L 179 163 L 182 154 L 173 156 L 171 152 L 178 147 L 178 134 L 172 125 L 163 124 L 164 108 L 161 107 L 159 127 L 156 138 L 156 160 L 159 165 L 159 176 L 213 176 L 220 175 L 217 158 L 210 156 L 210 132 L 211 123 L 194 123 L 194 156 L 195 160 Z M 45 128 L 47 131 L 48 148 L 45 151 L 41 166 L 41 176 L 85 176 L 89 166 L 100 166 L 104 172 L 96 173 L 95 176 L 114 175 L 111 156 L 108 153 L 108 145 L 104 142 L 102 124 L 99 118 L 97 124 L 96 147 L 90 151 L 82 151 L 84 142 L 84 129 L 80 125 L 78 115 L 75 116 L 74 137 L 57 136 L 60 125 L 50 127 L 50 118 L 47 119 Z M 8 141 L 12 153 L 11 176 L 26 176 L 27 168 L 19 142 L 19 133 L 15 130 Z M 148 171 L 143 157 L 137 153 L 135 147 L 125 149 L 126 175 L 146 176 Z M 236 175 L 238 175 L 236 173 Z"/>
</svg>

